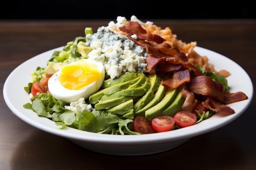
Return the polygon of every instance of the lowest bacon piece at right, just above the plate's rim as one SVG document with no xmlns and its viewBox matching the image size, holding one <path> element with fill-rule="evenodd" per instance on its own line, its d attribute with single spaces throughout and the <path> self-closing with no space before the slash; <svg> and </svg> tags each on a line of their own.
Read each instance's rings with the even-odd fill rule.
<svg viewBox="0 0 256 170">
<path fill-rule="evenodd" d="M 221 104 L 220 102 L 210 99 L 209 97 L 207 97 L 207 99 L 204 102 L 202 102 L 202 105 L 205 108 L 209 108 L 210 110 L 213 110 L 216 112 L 228 113 L 228 114 L 235 113 L 234 109 L 230 108 L 229 106 L 226 106 L 225 104 Z"/>
</svg>

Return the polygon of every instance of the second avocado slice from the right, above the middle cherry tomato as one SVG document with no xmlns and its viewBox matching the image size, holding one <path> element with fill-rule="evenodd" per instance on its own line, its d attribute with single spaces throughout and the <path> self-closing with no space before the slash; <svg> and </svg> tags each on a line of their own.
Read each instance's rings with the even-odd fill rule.
<svg viewBox="0 0 256 170">
<path fill-rule="evenodd" d="M 146 118 L 151 121 L 153 118 L 162 115 L 162 110 L 164 110 L 166 107 L 169 106 L 169 104 L 173 102 L 177 95 L 177 91 L 177 88 L 167 88 L 164 98 L 158 104 L 145 111 Z"/>
</svg>

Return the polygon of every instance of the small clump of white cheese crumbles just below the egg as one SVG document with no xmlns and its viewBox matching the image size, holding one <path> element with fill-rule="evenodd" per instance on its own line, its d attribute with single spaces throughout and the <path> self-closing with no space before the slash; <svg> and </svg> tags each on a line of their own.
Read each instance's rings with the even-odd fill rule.
<svg viewBox="0 0 256 170">
<path fill-rule="evenodd" d="M 64 106 L 65 108 L 72 110 L 76 113 L 82 113 L 82 112 L 91 112 L 92 111 L 92 105 L 86 104 L 84 98 L 80 98 L 76 102 L 71 102 L 69 106 Z"/>
</svg>

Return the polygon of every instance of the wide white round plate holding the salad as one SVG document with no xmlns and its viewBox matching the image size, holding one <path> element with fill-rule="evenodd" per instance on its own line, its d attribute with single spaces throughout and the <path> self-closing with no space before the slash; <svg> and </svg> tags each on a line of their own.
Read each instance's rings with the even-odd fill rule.
<svg viewBox="0 0 256 170">
<path fill-rule="evenodd" d="M 62 49 L 63 47 L 59 47 L 39 54 L 14 69 L 4 83 L 4 100 L 10 110 L 27 124 L 45 132 L 65 137 L 83 148 L 96 152 L 111 155 L 148 155 L 170 150 L 182 145 L 192 137 L 216 130 L 234 121 L 248 108 L 252 101 L 252 81 L 243 68 L 223 55 L 201 47 L 195 47 L 196 52 L 209 58 L 209 63 L 213 64 L 217 71 L 225 69 L 231 73 L 231 76 L 228 77 L 228 84 L 231 87 L 230 92 L 242 91 L 248 96 L 249 99 L 247 100 L 228 105 L 236 113 L 228 116 L 215 114 L 193 126 L 147 135 L 107 135 L 85 132 L 74 128 L 61 130 L 53 121 L 45 117 L 38 117 L 32 110 L 23 108 L 23 105 L 31 102 L 24 90 L 24 87 L 30 81 L 31 71 L 35 70 L 37 66 L 45 67 L 52 53 Z"/>
</svg>

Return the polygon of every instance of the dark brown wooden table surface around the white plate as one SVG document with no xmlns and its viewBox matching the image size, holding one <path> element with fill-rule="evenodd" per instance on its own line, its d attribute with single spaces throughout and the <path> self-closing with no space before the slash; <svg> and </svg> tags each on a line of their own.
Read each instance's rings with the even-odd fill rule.
<svg viewBox="0 0 256 170">
<path fill-rule="evenodd" d="M 234 60 L 256 84 L 256 20 L 150 20 L 169 26 L 179 40 Z M 0 20 L 0 88 L 7 76 L 31 57 L 84 36 L 109 20 Z M 32 70 L 32 68 L 31 68 Z M 20 75 L 27 76 L 27 75 Z M 239 81 L 239 80 L 237 80 Z M 18 82 L 17 82 L 18 83 Z M 245 84 L 246 86 L 246 84 Z M 256 99 L 233 122 L 193 137 L 177 148 L 144 156 L 105 155 L 81 148 L 25 123 L 0 94 L 1 170 L 256 169 Z"/>
</svg>

